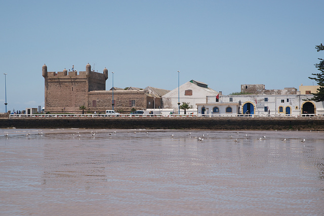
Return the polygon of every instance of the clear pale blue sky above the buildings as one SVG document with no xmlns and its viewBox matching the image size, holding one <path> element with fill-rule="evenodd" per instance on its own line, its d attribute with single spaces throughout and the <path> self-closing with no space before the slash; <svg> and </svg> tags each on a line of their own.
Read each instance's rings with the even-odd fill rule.
<svg viewBox="0 0 324 216">
<path fill-rule="evenodd" d="M 324 1 L 0 0 L 0 112 L 44 106 L 44 77 L 108 69 L 106 90 L 173 90 L 191 79 L 223 95 L 241 84 L 313 85 Z M 6 80 L 5 75 L 7 73 Z"/>
</svg>

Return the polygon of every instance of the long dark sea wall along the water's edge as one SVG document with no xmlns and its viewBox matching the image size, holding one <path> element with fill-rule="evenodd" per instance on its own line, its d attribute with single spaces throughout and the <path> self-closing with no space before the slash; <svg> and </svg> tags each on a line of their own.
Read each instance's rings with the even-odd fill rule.
<svg viewBox="0 0 324 216">
<path fill-rule="evenodd" d="M 210 130 L 317 130 L 323 118 L 3 118 L 0 127 L 16 128 L 124 128 Z"/>
</svg>

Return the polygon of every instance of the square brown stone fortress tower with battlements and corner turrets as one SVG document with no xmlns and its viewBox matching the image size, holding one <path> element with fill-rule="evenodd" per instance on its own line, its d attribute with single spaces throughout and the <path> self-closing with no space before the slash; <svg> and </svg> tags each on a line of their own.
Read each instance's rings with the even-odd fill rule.
<svg viewBox="0 0 324 216">
<path fill-rule="evenodd" d="M 108 70 L 103 73 L 91 71 L 91 65 L 86 65 L 86 71 L 48 72 L 47 66 L 42 67 L 45 78 L 45 110 L 51 113 L 80 112 L 80 106 L 88 108 L 89 92 L 105 91 Z"/>
</svg>

